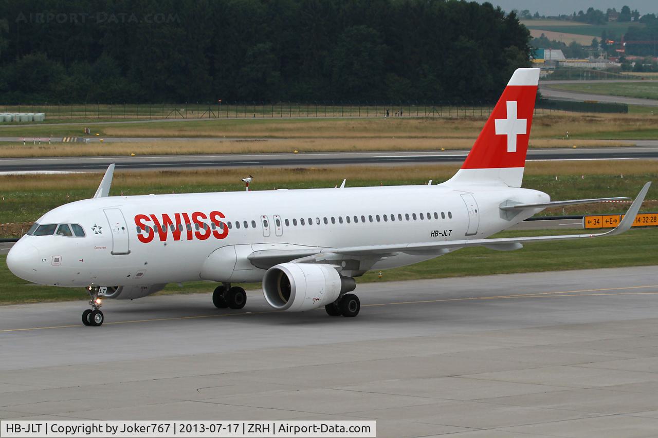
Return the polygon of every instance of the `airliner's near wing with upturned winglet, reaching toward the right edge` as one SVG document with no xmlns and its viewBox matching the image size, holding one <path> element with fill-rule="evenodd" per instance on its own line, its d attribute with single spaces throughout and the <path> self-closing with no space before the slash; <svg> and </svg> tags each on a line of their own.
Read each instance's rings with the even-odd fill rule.
<svg viewBox="0 0 658 438">
<path fill-rule="evenodd" d="M 441 255 L 454 251 L 455 249 L 467 247 L 487 247 L 499 251 L 511 251 L 522 248 L 523 243 L 546 242 L 569 239 L 584 239 L 590 237 L 603 237 L 608 235 L 621 234 L 628 231 L 632 226 L 635 216 L 642 207 L 644 197 L 649 191 L 651 182 L 647 182 L 638 197 L 628 208 L 628 212 L 619 222 L 617 228 L 606 231 L 605 233 L 596 234 L 567 234 L 567 235 L 550 235 L 550 236 L 533 236 L 533 237 L 509 237 L 501 239 L 470 239 L 470 240 L 453 240 L 453 241 L 432 241 L 418 243 L 394 243 L 392 245 L 369 245 L 361 247 L 341 247 L 341 248 L 311 248 L 311 249 L 291 249 L 291 250 L 263 250 L 251 253 L 247 258 L 259 268 L 269 268 L 278 263 L 318 263 L 339 260 L 351 260 L 354 258 L 380 259 L 385 256 L 392 256 L 396 253 L 406 253 L 411 255 Z"/>
</svg>

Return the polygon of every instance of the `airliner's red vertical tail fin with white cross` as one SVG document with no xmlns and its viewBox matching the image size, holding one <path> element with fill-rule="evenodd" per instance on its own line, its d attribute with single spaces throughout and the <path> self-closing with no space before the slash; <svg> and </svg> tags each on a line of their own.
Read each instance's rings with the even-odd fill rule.
<svg viewBox="0 0 658 438">
<path fill-rule="evenodd" d="M 521 186 L 538 82 L 539 68 L 514 72 L 464 164 L 449 183 Z"/>
</svg>

